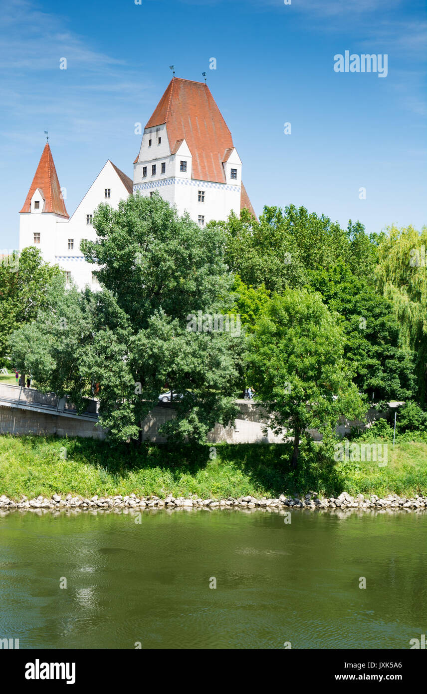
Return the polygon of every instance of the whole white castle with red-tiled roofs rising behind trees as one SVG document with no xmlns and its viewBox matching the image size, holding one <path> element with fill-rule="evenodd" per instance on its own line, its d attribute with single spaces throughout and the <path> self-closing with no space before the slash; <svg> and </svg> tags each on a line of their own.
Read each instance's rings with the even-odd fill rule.
<svg viewBox="0 0 427 694">
<path fill-rule="evenodd" d="M 107 163 L 69 217 L 49 143 L 46 143 L 19 212 L 19 251 L 40 248 L 44 260 L 57 263 L 78 287 L 96 289 L 96 266 L 80 253 L 82 239 L 96 240 L 92 217 L 99 203 L 117 208 L 137 191 L 154 191 L 189 212 L 204 226 L 247 208 L 254 214 L 242 183 L 242 162 L 232 134 L 205 83 L 173 77 L 148 120 L 134 160 L 134 179 Z"/>
</svg>

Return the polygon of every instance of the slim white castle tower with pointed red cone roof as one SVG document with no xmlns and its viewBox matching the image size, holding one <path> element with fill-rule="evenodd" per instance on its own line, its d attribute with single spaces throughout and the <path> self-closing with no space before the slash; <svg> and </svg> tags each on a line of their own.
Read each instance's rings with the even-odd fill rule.
<svg viewBox="0 0 427 694">
<path fill-rule="evenodd" d="M 44 260 L 55 262 L 58 222 L 67 222 L 62 191 L 49 142 L 46 142 L 24 205 L 19 212 L 19 251 L 26 246 L 40 248 Z"/>
</svg>

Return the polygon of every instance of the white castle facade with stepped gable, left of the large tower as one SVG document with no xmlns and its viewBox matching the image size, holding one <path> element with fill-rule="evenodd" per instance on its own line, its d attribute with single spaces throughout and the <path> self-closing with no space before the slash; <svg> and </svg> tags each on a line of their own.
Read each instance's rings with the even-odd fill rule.
<svg viewBox="0 0 427 694">
<path fill-rule="evenodd" d="M 31 211 L 20 214 L 19 251 L 27 246 L 40 248 L 44 260 L 58 264 L 62 270 L 71 273 L 72 280 L 80 289 L 85 285 L 98 289 L 98 282 L 92 274 L 97 266 L 85 262 L 80 252 L 80 242 L 82 239 L 96 240 L 91 221 L 99 203 L 108 203 L 116 209 L 119 201 L 128 198 L 131 185 L 129 178 L 128 185 L 123 183 L 116 167 L 108 160 L 69 219 L 43 212 L 42 192 L 37 188 L 31 198 Z M 39 200 L 40 205 L 35 209 L 34 203 Z"/>
</svg>

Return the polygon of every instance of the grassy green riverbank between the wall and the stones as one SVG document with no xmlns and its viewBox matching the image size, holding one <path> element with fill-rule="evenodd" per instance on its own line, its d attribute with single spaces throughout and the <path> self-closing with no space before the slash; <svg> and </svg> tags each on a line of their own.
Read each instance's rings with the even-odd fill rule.
<svg viewBox="0 0 427 694">
<path fill-rule="evenodd" d="M 353 496 L 426 494 L 427 443 L 408 441 L 388 448 L 385 467 L 376 462 L 333 464 L 308 455 L 295 473 L 285 446 L 224 443 L 213 449 L 147 444 L 135 450 L 91 439 L 5 435 L 0 436 L 0 495 L 17 499 L 50 497 L 55 492 L 82 496 L 134 492 L 160 498 L 169 492 L 202 498 L 277 497 L 307 491 L 324 496 L 341 491 Z"/>
</svg>

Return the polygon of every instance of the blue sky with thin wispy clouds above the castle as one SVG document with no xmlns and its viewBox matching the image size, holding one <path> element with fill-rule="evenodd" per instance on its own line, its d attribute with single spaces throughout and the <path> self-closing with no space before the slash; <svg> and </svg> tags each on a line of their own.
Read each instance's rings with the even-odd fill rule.
<svg viewBox="0 0 427 694">
<path fill-rule="evenodd" d="M 367 232 L 426 223 L 424 0 L 3 0 L 0 26 L 1 248 L 18 244 L 44 130 L 71 214 L 107 159 L 132 177 L 134 124 L 172 64 L 207 71 L 257 214 L 294 203 Z M 335 72 L 346 50 L 387 53 L 387 77 Z"/>
</svg>

